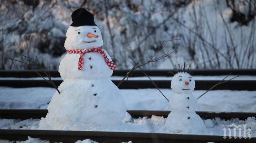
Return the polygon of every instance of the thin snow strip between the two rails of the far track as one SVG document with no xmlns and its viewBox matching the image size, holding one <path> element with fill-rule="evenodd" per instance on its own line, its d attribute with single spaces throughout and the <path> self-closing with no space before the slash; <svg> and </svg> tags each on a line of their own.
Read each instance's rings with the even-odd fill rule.
<svg viewBox="0 0 256 143">
<path fill-rule="evenodd" d="M 195 80 L 222 80 L 227 75 L 222 76 L 193 76 Z M 227 77 L 227 79 L 231 79 L 238 75 L 232 75 Z M 45 77 L 47 79 L 47 77 Z M 171 80 L 172 76 L 150 76 L 152 80 Z M 62 80 L 61 77 L 52 77 L 53 80 Z M 122 80 L 123 76 L 111 76 L 111 80 Z M 0 77 L 0 80 L 43 80 L 42 77 L 31 77 L 31 78 L 17 78 L 17 77 Z M 142 76 L 142 77 L 129 77 L 128 80 L 149 80 L 148 77 Z M 250 76 L 250 75 L 242 75 L 239 76 L 233 80 L 256 80 L 256 76 Z"/>
</svg>

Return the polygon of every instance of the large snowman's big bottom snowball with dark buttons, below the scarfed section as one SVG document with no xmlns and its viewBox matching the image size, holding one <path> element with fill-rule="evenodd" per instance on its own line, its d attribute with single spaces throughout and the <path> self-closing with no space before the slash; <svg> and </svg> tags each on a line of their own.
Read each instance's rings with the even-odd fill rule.
<svg viewBox="0 0 256 143">
<path fill-rule="evenodd" d="M 39 129 L 97 130 L 122 124 L 125 119 L 125 101 L 109 79 L 66 80 L 59 90 L 61 94 L 52 97 Z"/>
</svg>

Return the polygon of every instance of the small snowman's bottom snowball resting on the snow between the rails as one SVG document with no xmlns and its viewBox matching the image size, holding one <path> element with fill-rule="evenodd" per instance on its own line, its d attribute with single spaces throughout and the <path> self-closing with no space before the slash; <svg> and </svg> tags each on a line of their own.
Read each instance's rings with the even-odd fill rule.
<svg viewBox="0 0 256 143">
<path fill-rule="evenodd" d="M 165 130 L 170 130 L 174 133 L 204 132 L 205 128 L 206 127 L 204 122 L 195 112 L 181 113 L 177 111 L 171 111 L 166 119 L 165 124 Z"/>
</svg>

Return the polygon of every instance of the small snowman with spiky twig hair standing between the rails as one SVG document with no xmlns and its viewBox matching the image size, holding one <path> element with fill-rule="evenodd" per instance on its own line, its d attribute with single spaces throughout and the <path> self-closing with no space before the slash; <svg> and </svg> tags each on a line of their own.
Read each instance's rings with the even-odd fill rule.
<svg viewBox="0 0 256 143">
<path fill-rule="evenodd" d="M 197 99 L 192 94 L 195 89 L 195 80 L 188 69 L 179 67 L 171 80 L 173 94 L 170 96 L 171 113 L 168 115 L 165 130 L 179 132 L 204 132 L 205 124 L 195 113 Z"/>
</svg>

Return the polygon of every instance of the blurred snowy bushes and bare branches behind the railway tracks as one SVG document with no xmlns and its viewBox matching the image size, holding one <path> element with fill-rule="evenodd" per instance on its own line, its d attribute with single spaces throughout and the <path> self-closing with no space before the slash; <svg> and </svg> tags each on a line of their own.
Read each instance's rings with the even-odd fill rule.
<svg viewBox="0 0 256 143">
<path fill-rule="evenodd" d="M 95 15 L 118 69 L 133 67 L 129 56 L 148 61 L 171 39 L 178 40 L 166 42 L 156 57 L 180 44 L 178 50 L 145 69 L 184 62 L 197 69 L 256 68 L 254 0 L 1 0 L 0 68 L 15 69 L 8 57 L 18 52 L 58 69 L 71 13 L 80 7 Z"/>
</svg>

